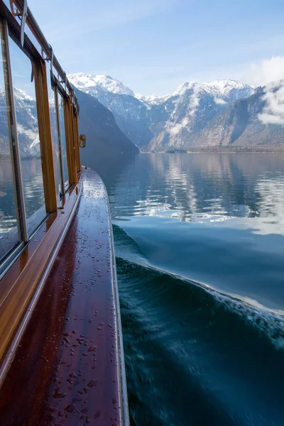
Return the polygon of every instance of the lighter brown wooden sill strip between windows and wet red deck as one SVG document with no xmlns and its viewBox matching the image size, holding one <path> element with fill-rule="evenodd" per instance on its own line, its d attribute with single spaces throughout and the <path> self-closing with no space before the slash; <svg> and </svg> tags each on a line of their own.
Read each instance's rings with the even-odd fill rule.
<svg viewBox="0 0 284 426">
<path fill-rule="evenodd" d="M 2 330 L 0 333 L 0 388 L 9 370 L 9 366 L 13 361 L 16 348 L 26 329 L 28 319 L 31 317 L 33 307 L 35 306 L 36 300 L 38 300 L 48 272 L 53 266 L 56 254 L 60 250 L 62 241 L 69 229 L 70 222 L 75 216 L 75 210 L 81 194 L 82 177 L 77 185 L 72 185 L 70 187 L 67 202 L 62 200 L 62 207 L 55 219 L 53 219 L 48 231 L 44 232 L 43 225 L 40 226 L 38 231 L 33 234 L 31 241 L 29 241 L 28 244 L 23 247 L 23 250 L 18 253 L 15 261 L 13 261 L 13 264 L 1 280 L 1 287 L 3 284 L 6 294 L 2 294 L 2 299 L 0 301 L 0 330 Z M 64 217 L 63 214 L 65 215 Z M 48 218 L 50 218 L 50 216 L 47 217 L 45 222 L 48 221 Z M 60 228 L 59 230 L 58 227 Z M 40 236 L 40 234 L 42 239 L 35 243 L 36 238 Z M 30 250 L 33 243 L 35 243 L 35 246 Z M 45 261 L 43 266 L 38 268 L 36 258 L 40 258 L 42 252 L 45 253 Z M 35 280 L 32 278 L 33 274 L 35 274 Z M 31 279 L 30 282 L 28 282 L 28 278 Z M 21 305 L 24 307 L 21 311 L 21 315 L 18 315 L 18 312 L 16 312 L 16 318 L 13 324 L 10 324 L 10 333 L 7 336 L 7 324 L 3 325 L 3 320 L 6 317 L 5 314 L 10 309 L 15 311 L 13 302 L 15 302 L 15 300 L 17 301 L 19 298 L 17 290 L 21 290 L 25 282 L 27 286 L 26 293 L 28 294 L 26 295 L 26 300 L 21 300 Z"/>
</svg>

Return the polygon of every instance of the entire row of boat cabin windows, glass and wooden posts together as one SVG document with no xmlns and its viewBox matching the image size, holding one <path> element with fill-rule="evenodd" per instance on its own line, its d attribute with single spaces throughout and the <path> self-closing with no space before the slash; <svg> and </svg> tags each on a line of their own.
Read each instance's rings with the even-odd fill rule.
<svg viewBox="0 0 284 426">
<path fill-rule="evenodd" d="M 9 26 L 0 17 L 0 273 L 76 181 L 68 88 L 55 70 L 46 76 L 46 90 L 43 61 L 51 57 L 30 44 L 21 48 L 19 33 Z"/>
</svg>

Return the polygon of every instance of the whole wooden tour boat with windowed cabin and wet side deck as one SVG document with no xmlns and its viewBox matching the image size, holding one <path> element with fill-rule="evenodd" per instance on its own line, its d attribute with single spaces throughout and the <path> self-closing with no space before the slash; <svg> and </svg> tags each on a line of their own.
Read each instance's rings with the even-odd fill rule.
<svg viewBox="0 0 284 426">
<path fill-rule="evenodd" d="M 0 18 L 0 423 L 127 426 L 107 190 L 80 163 L 80 105 L 27 1 L 0 0 Z"/>
</svg>

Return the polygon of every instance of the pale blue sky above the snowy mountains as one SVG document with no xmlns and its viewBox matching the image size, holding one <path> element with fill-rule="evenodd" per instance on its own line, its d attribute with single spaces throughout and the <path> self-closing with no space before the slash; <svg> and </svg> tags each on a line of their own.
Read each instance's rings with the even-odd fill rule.
<svg viewBox="0 0 284 426">
<path fill-rule="evenodd" d="M 136 93 L 166 94 L 185 81 L 284 78 L 283 0 L 28 5 L 67 73 L 108 74 Z"/>
</svg>

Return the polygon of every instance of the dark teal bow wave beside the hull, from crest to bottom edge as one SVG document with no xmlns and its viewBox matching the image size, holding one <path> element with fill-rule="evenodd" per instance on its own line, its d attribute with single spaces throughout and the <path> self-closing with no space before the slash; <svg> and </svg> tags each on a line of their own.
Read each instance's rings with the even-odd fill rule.
<svg viewBox="0 0 284 426">
<path fill-rule="evenodd" d="M 132 422 L 280 425 L 284 318 L 148 264 L 114 225 Z"/>
</svg>

